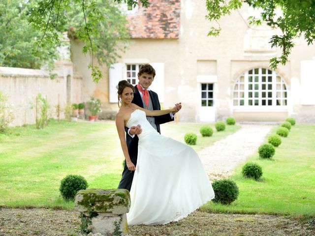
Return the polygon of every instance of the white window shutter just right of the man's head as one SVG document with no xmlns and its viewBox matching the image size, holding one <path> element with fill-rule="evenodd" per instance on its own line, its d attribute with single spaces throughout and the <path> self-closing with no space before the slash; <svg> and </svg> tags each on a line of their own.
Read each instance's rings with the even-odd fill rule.
<svg viewBox="0 0 315 236">
<path fill-rule="evenodd" d="M 150 89 L 158 93 L 159 102 L 164 102 L 164 63 L 150 63 L 156 70 L 156 76 Z"/>
</svg>

